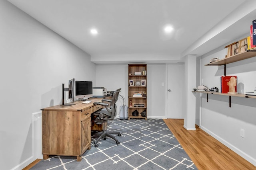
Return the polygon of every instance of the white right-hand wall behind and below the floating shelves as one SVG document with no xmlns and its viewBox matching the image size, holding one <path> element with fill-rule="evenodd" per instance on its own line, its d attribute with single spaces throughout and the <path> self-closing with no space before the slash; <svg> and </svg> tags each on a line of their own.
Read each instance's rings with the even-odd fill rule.
<svg viewBox="0 0 256 170">
<path fill-rule="evenodd" d="M 224 75 L 224 66 L 204 66 L 204 64 L 209 63 L 214 57 L 224 58 L 225 54 L 226 51 L 222 47 L 202 56 L 202 80 L 209 88 L 216 86 L 220 89 L 220 76 Z M 255 65 L 256 57 L 226 64 L 226 75 L 237 76 L 239 93 L 244 93 L 246 88 L 255 89 Z M 256 165 L 256 99 L 232 97 L 229 107 L 228 96 L 210 94 L 208 103 L 206 94 L 200 96 L 200 128 Z M 240 137 L 240 129 L 245 130 L 245 138 Z"/>
</svg>

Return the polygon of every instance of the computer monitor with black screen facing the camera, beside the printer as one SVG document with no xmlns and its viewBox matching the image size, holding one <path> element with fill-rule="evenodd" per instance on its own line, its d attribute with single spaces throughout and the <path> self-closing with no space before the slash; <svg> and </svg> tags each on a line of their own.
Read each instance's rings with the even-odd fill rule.
<svg viewBox="0 0 256 170">
<path fill-rule="evenodd" d="M 92 97 L 92 82 L 90 81 L 75 81 L 75 89 L 76 100 Z"/>
</svg>

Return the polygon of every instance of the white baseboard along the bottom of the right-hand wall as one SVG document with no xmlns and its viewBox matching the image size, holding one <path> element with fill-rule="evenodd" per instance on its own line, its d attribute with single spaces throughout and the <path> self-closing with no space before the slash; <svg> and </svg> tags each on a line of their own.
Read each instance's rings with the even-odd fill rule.
<svg viewBox="0 0 256 170">
<path fill-rule="evenodd" d="M 209 131 L 208 129 L 206 129 L 206 128 L 203 127 L 202 125 L 200 126 L 200 129 L 202 129 L 203 131 L 205 131 L 206 133 L 208 133 L 209 135 L 211 135 L 212 137 L 214 137 L 215 139 L 217 139 L 220 143 L 222 143 L 223 145 L 225 145 L 225 146 L 228 147 L 229 149 L 233 150 L 233 151 L 236 152 L 238 155 L 242 156 L 242 158 L 246 159 L 248 162 L 250 162 L 251 164 L 253 164 L 254 166 L 256 166 L 256 159 L 254 159 L 252 156 L 246 154 L 245 152 L 243 152 L 242 150 L 238 149 L 237 147 L 235 147 L 235 146 L 232 145 L 231 143 L 225 141 L 224 139 L 222 139 L 221 137 L 219 137 L 219 136 L 216 135 L 215 133 L 212 133 L 212 131 Z"/>
</svg>

